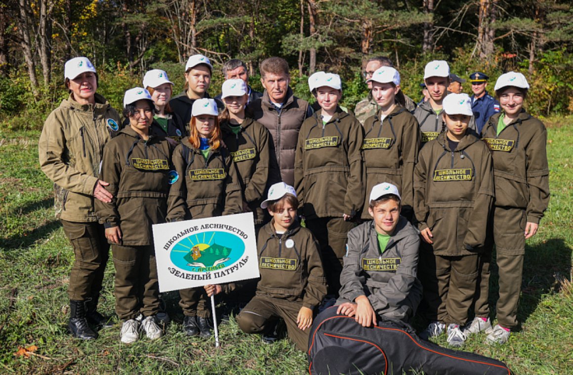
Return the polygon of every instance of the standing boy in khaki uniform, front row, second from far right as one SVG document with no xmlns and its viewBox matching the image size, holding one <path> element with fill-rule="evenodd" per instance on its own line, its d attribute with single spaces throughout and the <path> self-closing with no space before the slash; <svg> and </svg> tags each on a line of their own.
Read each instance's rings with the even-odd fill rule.
<svg viewBox="0 0 573 375">
<path fill-rule="evenodd" d="M 430 320 L 421 337 L 447 326 L 448 344 L 460 347 L 493 202 L 493 171 L 488 147 L 468 133 L 469 96 L 450 94 L 443 104 L 447 131 L 422 148 L 414 170 L 414 212 L 425 243 L 419 277 Z"/>
</svg>

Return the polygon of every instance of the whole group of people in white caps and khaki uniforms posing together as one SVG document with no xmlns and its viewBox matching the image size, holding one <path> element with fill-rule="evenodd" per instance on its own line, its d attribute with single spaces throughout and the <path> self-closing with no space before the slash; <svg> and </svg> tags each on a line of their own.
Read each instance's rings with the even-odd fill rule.
<svg viewBox="0 0 573 375">
<path fill-rule="evenodd" d="M 111 326 L 97 311 L 110 245 L 121 342 L 141 331 L 157 339 L 166 314 L 151 225 L 252 212 L 260 279 L 180 290 L 187 335 L 211 336 L 208 298 L 219 295 L 240 304 L 246 333 L 272 341 L 282 319 L 300 350 L 317 312 L 332 305 L 363 326 L 418 312 L 428 322 L 423 338 L 446 331 L 454 347 L 481 331 L 490 343 L 507 342 L 525 239 L 549 201 L 547 134 L 523 108 L 523 75 L 497 79 L 498 104 L 483 73 L 470 75 L 469 97 L 448 90 L 448 62 L 431 61 L 428 99 L 417 105 L 391 62 L 375 58 L 364 75 L 371 91 L 352 113 L 339 104 L 334 73 L 309 77 L 312 106 L 293 95 L 280 57 L 260 64 L 264 93 L 249 86 L 242 61 L 227 61 L 215 99 L 209 58 L 191 56 L 185 68 L 174 97 L 167 73 L 148 71 L 142 87 L 125 92 L 122 122 L 96 93 L 88 58 L 65 64 L 70 94 L 46 119 L 38 149 L 75 255 L 74 337 L 95 339 L 92 327 Z"/>
</svg>

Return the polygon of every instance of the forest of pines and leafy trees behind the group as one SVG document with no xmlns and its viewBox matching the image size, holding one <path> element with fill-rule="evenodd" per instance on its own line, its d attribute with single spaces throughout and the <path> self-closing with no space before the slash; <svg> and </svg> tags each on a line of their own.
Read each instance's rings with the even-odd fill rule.
<svg viewBox="0 0 573 375">
<path fill-rule="evenodd" d="M 125 89 L 151 68 L 168 72 L 178 92 L 185 61 L 214 64 L 211 95 L 229 58 L 245 61 L 261 89 L 258 64 L 269 56 L 291 65 L 295 93 L 309 99 L 317 70 L 343 78 L 343 103 L 367 95 L 362 69 L 387 56 L 403 91 L 419 100 L 426 62 L 445 59 L 453 73 L 521 71 L 537 116 L 573 112 L 573 3 L 567 0 L 7 0 L 0 2 L 0 128 L 33 130 L 67 96 L 64 62 L 87 56 L 99 92 L 116 108 Z M 465 92 L 471 93 L 469 83 Z"/>
</svg>

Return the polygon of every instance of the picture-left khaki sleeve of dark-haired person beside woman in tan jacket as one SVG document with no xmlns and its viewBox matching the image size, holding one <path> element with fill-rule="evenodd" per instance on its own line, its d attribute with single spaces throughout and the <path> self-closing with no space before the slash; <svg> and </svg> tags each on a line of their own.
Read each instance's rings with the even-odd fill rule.
<svg viewBox="0 0 573 375">
<path fill-rule="evenodd" d="M 104 147 L 103 159 L 101 159 L 100 179 L 109 183 L 108 186 L 104 186 L 104 189 L 111 193 L 113 198 L 109 203 L 104 203 L 99 199 L 93 200 L 99 222 L 105 228 L 117 226 L 120 222 L 119 213 L 117 213 L 116 197 L 119 190 L 122 167 L 123 163 L 121 163 L 115 142 L 107 143 Z"/>
</svg>

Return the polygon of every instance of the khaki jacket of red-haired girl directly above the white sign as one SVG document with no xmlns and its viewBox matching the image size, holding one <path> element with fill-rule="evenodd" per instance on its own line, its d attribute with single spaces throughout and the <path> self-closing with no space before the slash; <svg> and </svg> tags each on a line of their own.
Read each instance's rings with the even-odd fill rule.
<svg viewBox="0 0 573 375">
<path fill-rule="evenodd" d="M 207 160 L 189 138 L 175 147 L 173 165 L 179 175 L 167 200 L 167 221 L 228 215 L 242 212 L 241 186 L 229 151 L 219 147 Z"/>
</svg>

